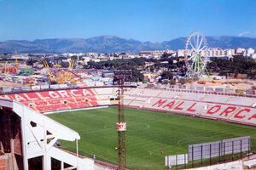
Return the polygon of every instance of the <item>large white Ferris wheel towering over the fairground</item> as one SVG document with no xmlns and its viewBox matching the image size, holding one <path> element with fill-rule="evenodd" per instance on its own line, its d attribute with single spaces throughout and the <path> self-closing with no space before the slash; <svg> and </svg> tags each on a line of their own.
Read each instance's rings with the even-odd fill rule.
<svg viewBox="0 0 256 170">
<path fill-rule="evenodd" d="M 187 77 L 202 77 L 207 74 L 208 54 L 206 37 L 198 31 L 192 32 L 185 45 Z"/>
</svg>

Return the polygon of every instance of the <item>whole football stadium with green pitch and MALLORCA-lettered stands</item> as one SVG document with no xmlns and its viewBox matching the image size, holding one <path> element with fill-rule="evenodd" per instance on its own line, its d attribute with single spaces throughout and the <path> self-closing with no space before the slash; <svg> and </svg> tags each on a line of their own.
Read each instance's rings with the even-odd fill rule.
<svg viewBox="0 0 256 170">
<path fill-rule="evenodd" d="M 3 152 L 1 165 L 116 169 L 118 90 L 105 86 L 2 94 L 1 148 L 15 156 Z M 253 95 L 132 86 L 124 91 L 126 168 L 255 165 Z"/>
</svg>

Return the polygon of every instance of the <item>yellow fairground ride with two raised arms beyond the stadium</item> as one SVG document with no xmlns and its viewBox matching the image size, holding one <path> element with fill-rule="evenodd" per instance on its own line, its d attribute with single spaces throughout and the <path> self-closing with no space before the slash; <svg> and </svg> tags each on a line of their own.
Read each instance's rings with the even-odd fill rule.
<svg viewBox="0 0 256 170">
<path fill-rule="evenodd" d="M 55 82 L 57 84 L 63 84 L 65 82 L 76 83 L 81 82 L 81 77 L 74 73 L 73 67 L 75 59 L 71 59 L 69 62 L 68 69 L 66 68 L 50 68 L 48 61 L 44 59 L 44 67 L 47 69 L 48 77 L 50 82 Z"/>
</svg>

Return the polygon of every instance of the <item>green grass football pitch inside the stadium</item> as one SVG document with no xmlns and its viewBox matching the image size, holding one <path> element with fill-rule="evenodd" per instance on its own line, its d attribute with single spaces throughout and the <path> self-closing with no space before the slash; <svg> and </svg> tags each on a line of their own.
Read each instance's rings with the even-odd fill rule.
<svg viewBox="0 0 256 170">
<path fill-rule="evenodd" d="M 79 133 L 79 154 L 116 162 L 117 107 L 68 111 L 49 117 Z M 125 109 L 125 121 L 128 167 L 161 169 L 165 156 L 188 153 L 188 144 L 247 135 L 251 136 L 252 149 L 256 150 L 255 127 L 136 109 Z M 74 151 L 75 142 L 61 141 L 61 147 Z"/>
</svg>

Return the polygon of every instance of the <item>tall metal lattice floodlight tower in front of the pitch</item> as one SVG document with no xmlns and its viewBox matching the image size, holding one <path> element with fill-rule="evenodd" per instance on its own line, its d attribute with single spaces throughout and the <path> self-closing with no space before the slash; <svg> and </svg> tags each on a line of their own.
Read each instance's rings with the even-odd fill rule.
<svg viewBox="0 0 256 170">
<path fill-rule="evenodd" d="M 131 71 L 113 71 L 113 82 L 118 82 L 119 90 L 119 104 L 118 104 L 118 122 L 116 123 L 116 130 L 118 132 L 118 164 L 119 170 L 125 170 L 126 156 L 125 156 L 125 113 L 124 113 L 124 82 L 131 79 Z"/>
</svg>

